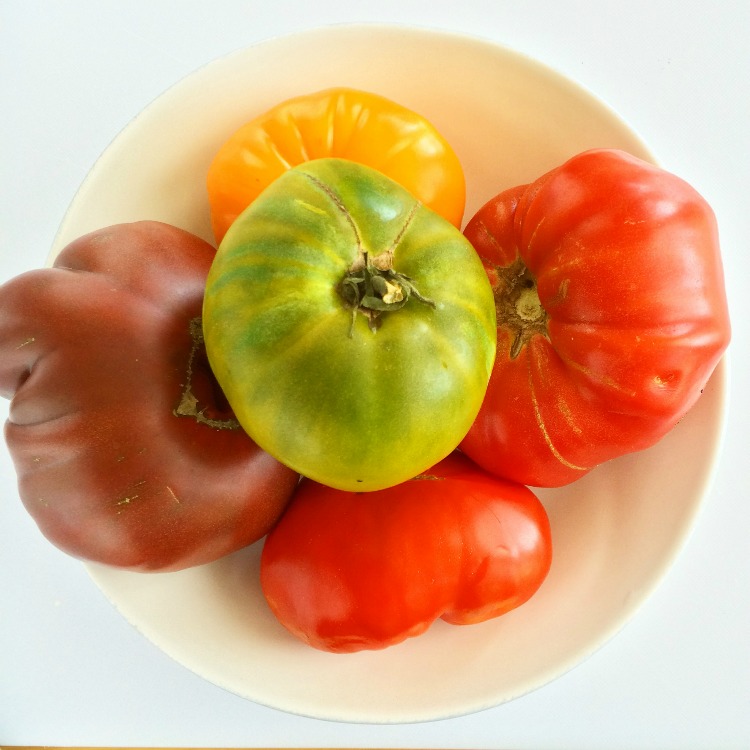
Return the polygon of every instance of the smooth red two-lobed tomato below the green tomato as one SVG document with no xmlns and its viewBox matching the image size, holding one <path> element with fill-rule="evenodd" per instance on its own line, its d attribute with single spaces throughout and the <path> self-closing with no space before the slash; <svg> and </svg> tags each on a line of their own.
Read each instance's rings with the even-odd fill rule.
<svg viewBox="0 0 750 750">
<path fill-rule="evenodd" d="M 303 479 L 266 537 L 260 575 L 284 627 L 346 653 L 395 645 L 437 618 L 499 617 L 531 598 L 551 561 L 536 496 L 453 453 L 378 492 Z"/>
</svg>

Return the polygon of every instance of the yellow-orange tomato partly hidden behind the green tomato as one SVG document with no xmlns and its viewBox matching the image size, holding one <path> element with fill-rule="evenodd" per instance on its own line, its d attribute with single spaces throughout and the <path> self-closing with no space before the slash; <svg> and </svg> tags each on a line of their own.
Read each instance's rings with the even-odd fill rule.
<svg viewBox="0 0 750 750">
<path fill-rule="evenodd" d="M 287 169 L 325 157 L 377 169 L 461 226 L 466 182 L 450 144 L 416 112 L 339 87 L 281 102 L 238 128 L 217 151 L 207 176 L 216 241 Z"/>
</svg>

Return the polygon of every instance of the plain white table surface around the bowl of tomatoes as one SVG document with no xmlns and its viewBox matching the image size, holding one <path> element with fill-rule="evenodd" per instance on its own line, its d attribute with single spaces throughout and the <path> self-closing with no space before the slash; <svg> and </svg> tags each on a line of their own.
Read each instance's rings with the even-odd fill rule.
<svg viewBox="0 0 750 750">
<path fill-rule="evenodd" d="M 714 207 L 734 324 L 723 459 L 656 593 L 573 671 L 463 718 L 360 726 L 264 708 L 140 636 L 22 510 L 0 447 L 0 744 L 421 748 L 750 747 L 750 3 L 747 0 L 3 0 L 0 281 L 43 265 L 119 130 L 203 63 L 340 22 L 488 38 L 608 102 Z M 488 95 L 491 95 L 488 92 Z M 0 418 L 7 404 L 0 405 Z M 447 678 L 449 679 L 449 678 Z"/>
</svg>

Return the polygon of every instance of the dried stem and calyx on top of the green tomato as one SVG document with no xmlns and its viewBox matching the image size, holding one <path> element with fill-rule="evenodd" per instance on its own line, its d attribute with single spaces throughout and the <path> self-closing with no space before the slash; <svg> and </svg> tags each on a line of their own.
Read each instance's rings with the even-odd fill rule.
<svg viewBox="0 0 750 750">
<path fill-rule="evenodd" d="M 338 285 L 344 304 L 352 311 L 349 338 L 354 335 L 357 313 L 367 318 L 371 331 L 377 331 L 384 312 L 400 310 L 410 298 L 435 307 L 435 302 L 423 297 L 414 279 L 393 270 L 393 251 L 380 253 L 374 259 L 361 251 Z"/>
</svg>

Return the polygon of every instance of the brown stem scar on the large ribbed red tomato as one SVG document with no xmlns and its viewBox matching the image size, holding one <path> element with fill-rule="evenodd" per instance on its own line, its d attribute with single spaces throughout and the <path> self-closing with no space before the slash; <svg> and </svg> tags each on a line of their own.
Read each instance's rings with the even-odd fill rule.
<svg viewBox="0 0 750 750">
<path fill-rule="evenodd" d="M 497 325 L 510 331 L 510 358 L 515 359 L 534 336 L 548 337 L 547 311 L 539 299 L 536 279 L 520 257 L 492 271 Z"/>
</svg>

